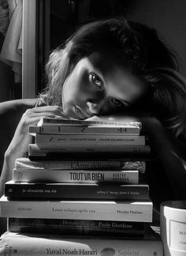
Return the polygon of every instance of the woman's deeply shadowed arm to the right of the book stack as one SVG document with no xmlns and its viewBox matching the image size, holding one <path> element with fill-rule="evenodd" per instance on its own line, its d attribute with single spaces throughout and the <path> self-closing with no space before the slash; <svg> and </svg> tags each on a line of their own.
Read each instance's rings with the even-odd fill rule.
<svg viewBox="0 0 186 256">
<path fill-rule="evenodd" d="M 158 119 L 143 119 L 143 128 L 150 138 L 155 156 L 162 162 L 175 198 L 186 199 L 186 147 L 171 136 Z"/>
</svg>

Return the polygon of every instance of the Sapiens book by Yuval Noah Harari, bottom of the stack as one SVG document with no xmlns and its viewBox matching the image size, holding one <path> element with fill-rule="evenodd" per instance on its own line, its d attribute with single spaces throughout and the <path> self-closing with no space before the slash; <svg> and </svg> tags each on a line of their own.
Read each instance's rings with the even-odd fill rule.
<svg viewBox="0 0 186 256">
<path fill-rule="evenodd" d="M 104 237 L 61 237 L 60 235 L 19 234 L 6 232 L 1 236 L 0 255 L 138 255 L 162 256 L 162 241 L 155 235 L 146 239 L 108 239 Z"/>
</svg>

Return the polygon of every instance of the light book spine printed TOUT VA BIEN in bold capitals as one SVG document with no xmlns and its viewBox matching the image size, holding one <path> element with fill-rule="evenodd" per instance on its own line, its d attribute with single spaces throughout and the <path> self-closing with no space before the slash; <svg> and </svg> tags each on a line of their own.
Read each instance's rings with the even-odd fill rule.
<svg viewBox="0 0 186 256">
<path fill-rule="evenodd" d="M 15 182 L 50 182 L 50 183 L 139 183 L 139 171 L 95 171 L 95 170 L 46 170 L 13 169 Z"/>
</svg>

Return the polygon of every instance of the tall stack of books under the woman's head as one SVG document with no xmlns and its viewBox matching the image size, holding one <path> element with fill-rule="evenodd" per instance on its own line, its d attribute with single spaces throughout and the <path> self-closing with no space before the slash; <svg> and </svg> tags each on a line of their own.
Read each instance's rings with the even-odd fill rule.
<svg viewBox="0 0 186 256">
<path fill-rule="evenodd" d="M 0 199 L 0 252 L 162 256 L 139 122 L 42 119 Z M 2 247 L 2 248 L 1 248 Z"/>
</svg>

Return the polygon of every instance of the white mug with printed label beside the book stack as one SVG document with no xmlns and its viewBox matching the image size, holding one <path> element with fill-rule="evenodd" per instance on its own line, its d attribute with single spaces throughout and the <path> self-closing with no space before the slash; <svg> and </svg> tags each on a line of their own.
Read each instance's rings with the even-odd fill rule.
<svg viewBox="0 0 186 256">
<path fill-rule="evenodd" d="M 164 201 L 160 207 L 164 256 L 186 256 L 186 201 Z"/>
</svg>

